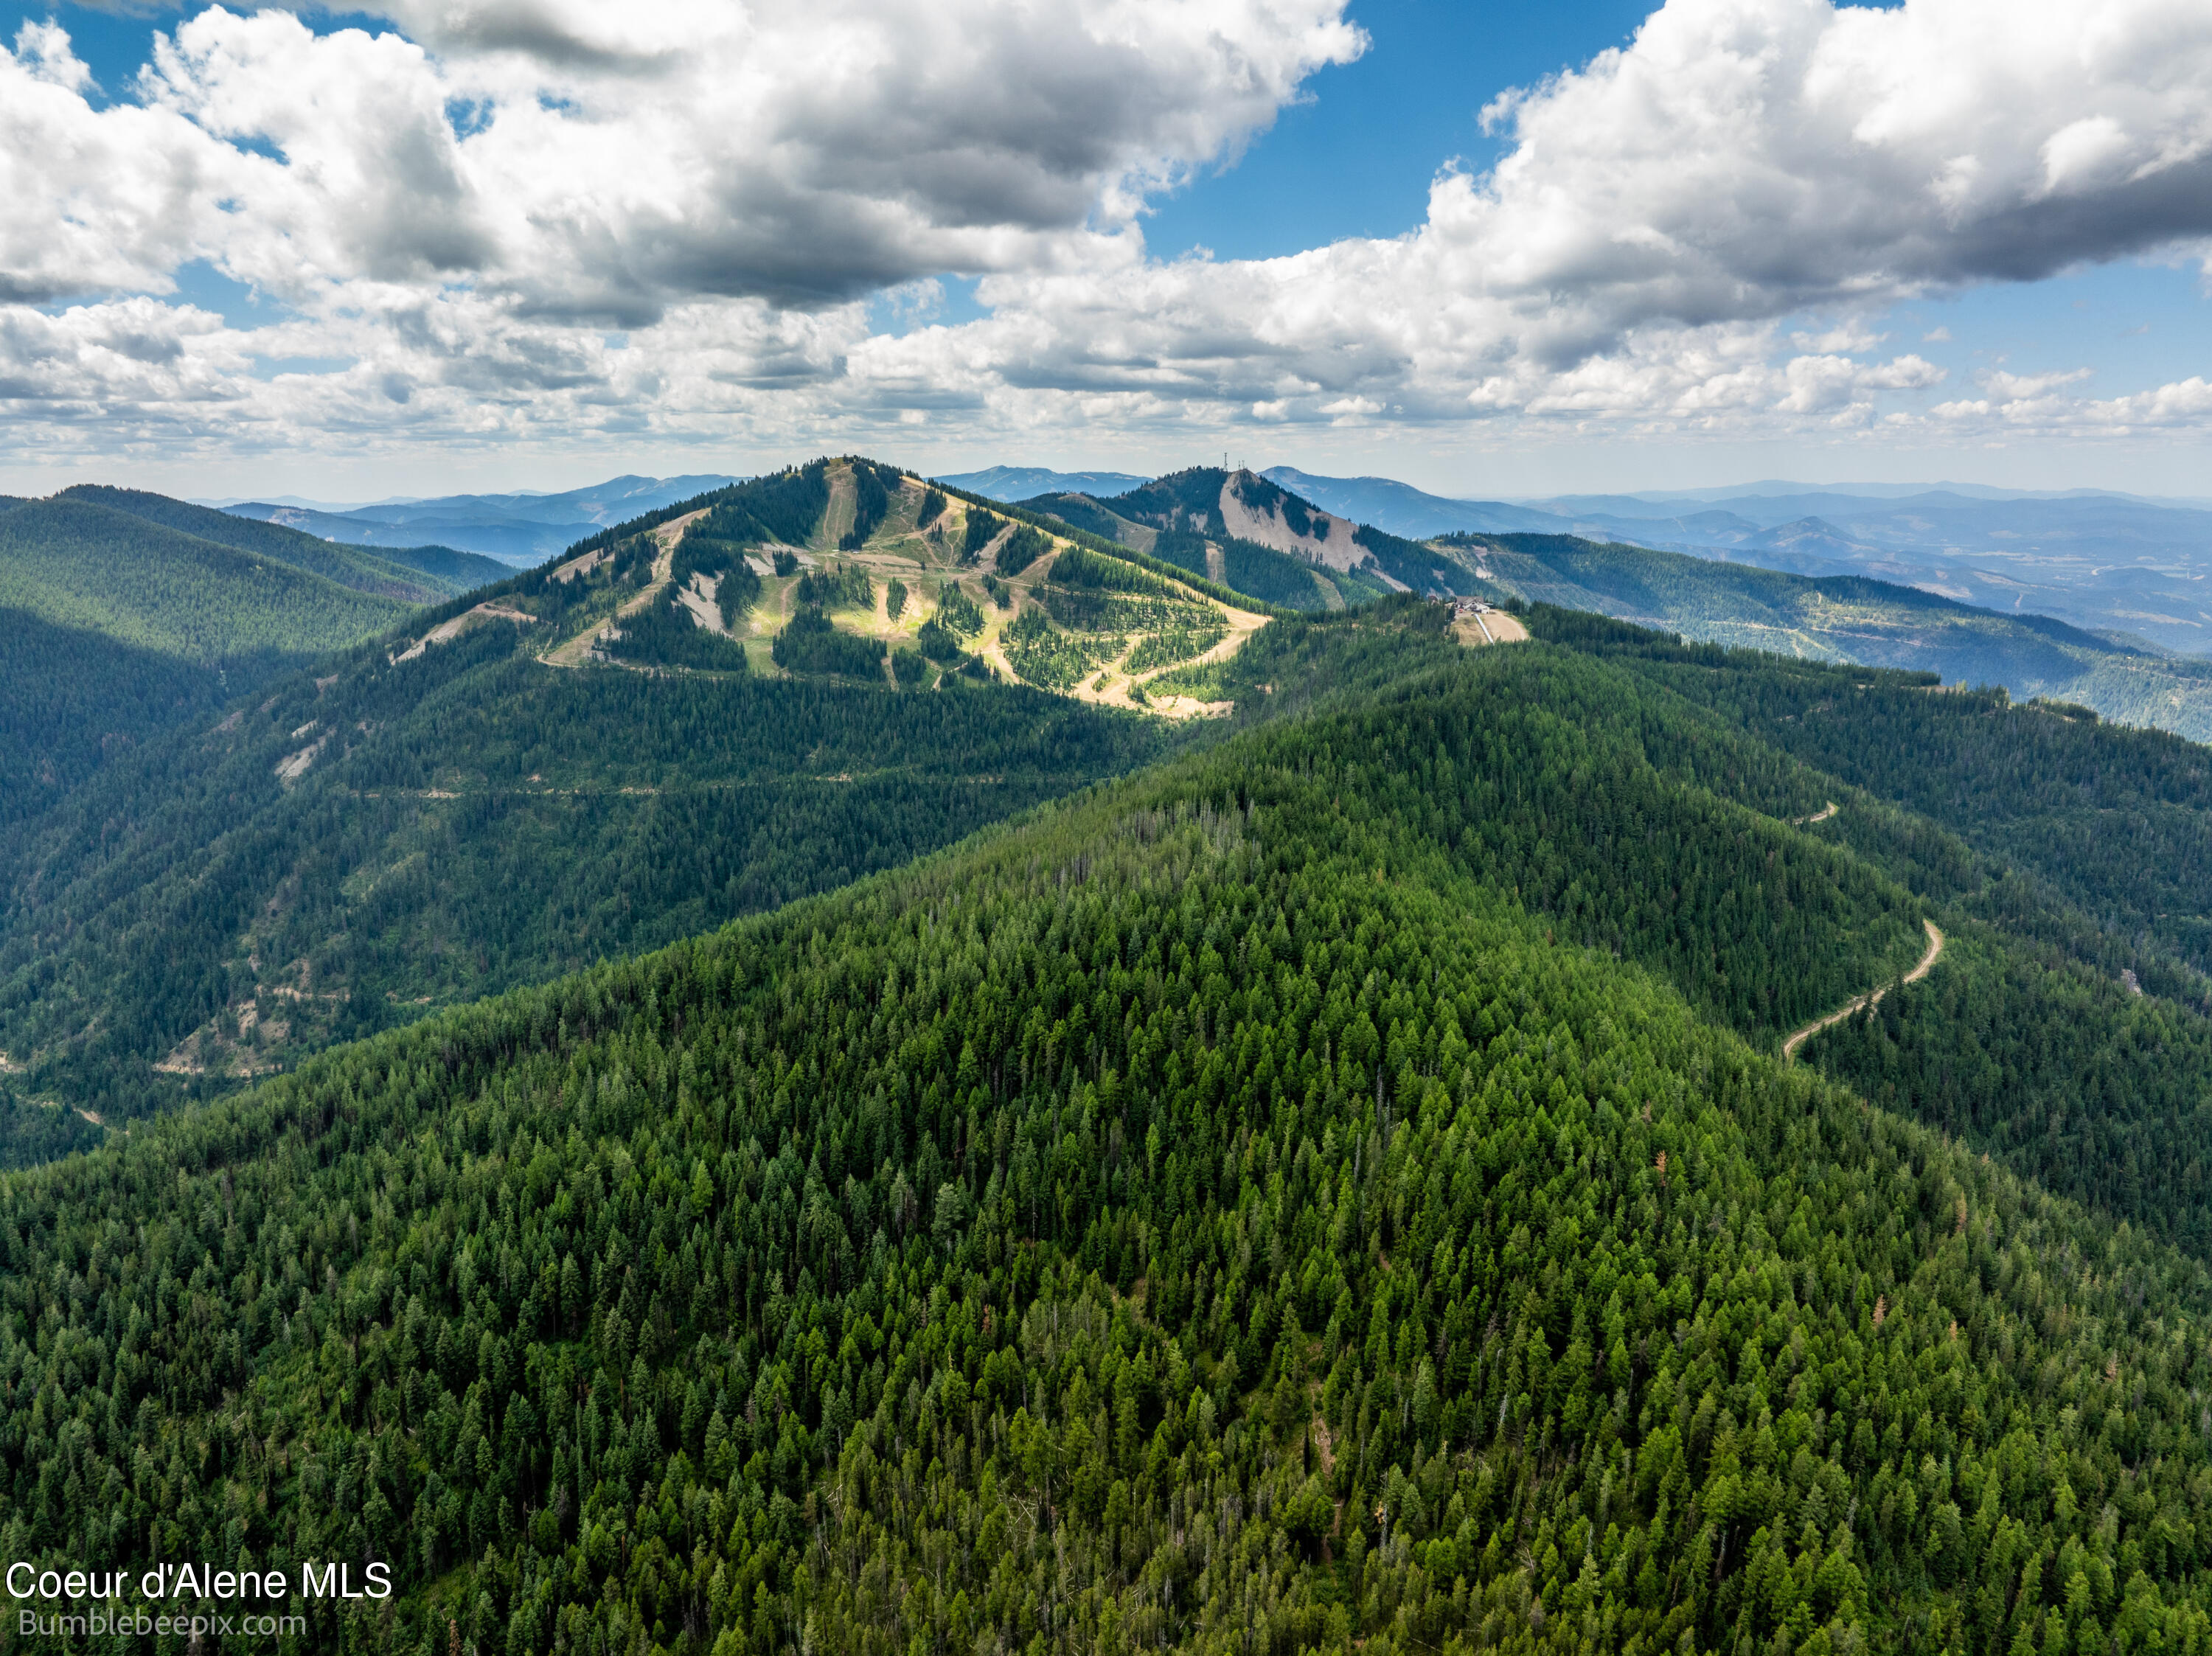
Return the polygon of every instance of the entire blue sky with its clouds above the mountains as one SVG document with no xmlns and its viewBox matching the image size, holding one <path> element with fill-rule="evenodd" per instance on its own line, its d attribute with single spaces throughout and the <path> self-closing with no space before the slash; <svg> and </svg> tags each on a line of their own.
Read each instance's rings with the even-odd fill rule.
<svg viewBox="0 0 2212 1656">
<path fill-rule="evenodd" d="M 1993 4 L 1192 0 L 1095 38 L 1079 0 L 863 0 L 830 53 L 706 0 L 7 0 L 0 486 L 854 444 L 2203 493 L 2212 20 L 2097 9 L 2099 82 L 2090 9 Z M 1962 53 L 1997 11 L 2011 55 Z"/>
</svg>

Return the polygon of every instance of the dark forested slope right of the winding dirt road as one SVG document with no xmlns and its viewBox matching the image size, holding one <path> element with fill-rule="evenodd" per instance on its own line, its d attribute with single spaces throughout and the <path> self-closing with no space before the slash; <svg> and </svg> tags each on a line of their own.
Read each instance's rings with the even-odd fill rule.
<svg viewBox="0 0 2212 1656">
<path fill-rule="evenodd" d="M 1913 674 L 1531 623 L 1816 765 L 1803 831 L 1931 906 L 1940 971 L 1801 1061 L 2212 1258 L 2212 754 Z"/>
</svg>

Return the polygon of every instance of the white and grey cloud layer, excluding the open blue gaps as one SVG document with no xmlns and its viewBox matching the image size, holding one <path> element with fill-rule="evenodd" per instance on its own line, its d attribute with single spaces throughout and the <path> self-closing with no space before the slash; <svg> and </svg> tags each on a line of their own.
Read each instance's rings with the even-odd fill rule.
<svg viewBox="0 0 2212 1656">
<path fill-rule="evenodd" d="M 392 0 L 204 11 L 131 88 L 0 53 L 18 453 L 805 442 L 1110 422 L 2201 429 L 1867 318 L 2212 239 L 2194 0 L 1670 0 L 1498 99 L 1407 237 L 1161 263 L 1150 192 L 1363 49 L 1343 0 Z M 281 321 L 173 298 L 204 261 Z M 980 274 L 980 321 L 872 327 Z M 880 307 L 874 307 L 880 314 Z M 1803 316 L 1820 316 L 1816 329 Z M 294 371 L 279 371 L 294 365 Z M 1942 389 L 1938 389 L 1942 387 Z"/>
</svg>

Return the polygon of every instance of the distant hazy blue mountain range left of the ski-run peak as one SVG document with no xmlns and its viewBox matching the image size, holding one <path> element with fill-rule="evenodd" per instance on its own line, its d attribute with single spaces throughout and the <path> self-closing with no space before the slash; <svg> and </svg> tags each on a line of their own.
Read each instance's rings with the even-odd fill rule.
<svg viewBox="0 0 2212 1656">
<path fill-rule="evenodd" d="M 538 564 L 586 535 L 679 500 L 726 489 L 723 473 L 688 478 L 611 478 L 557 495 L 438 495 L 387 500 L 374 506 L 334 506 L 296 495 L 223 504 L 234 517 L 303 528 L 349 546 L 420 546 L 436 542 L 462 553 L 484 553 L 502 564 Z M 1141 482 L 1141 480 L 1139 480 Z"/>
</svg>

